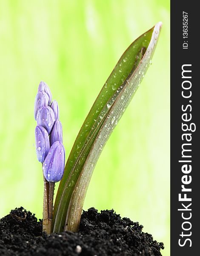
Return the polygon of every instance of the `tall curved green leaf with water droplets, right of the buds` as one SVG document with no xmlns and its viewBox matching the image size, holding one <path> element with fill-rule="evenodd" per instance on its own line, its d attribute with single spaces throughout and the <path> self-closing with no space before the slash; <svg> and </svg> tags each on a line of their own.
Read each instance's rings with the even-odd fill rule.
<svg viewBox="0 0 200 256">
<path fill-rule="evenodd" d="M 77 231 L 94 166 L 151 64 L 160 28 L 157 23 L 123 53 L 86 117 L 57 192 L 54 232 Z"/>
</svg>

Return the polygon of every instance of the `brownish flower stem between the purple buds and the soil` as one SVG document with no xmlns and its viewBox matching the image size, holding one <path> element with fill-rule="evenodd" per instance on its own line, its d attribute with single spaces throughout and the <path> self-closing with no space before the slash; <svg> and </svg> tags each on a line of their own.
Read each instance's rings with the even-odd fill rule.
<svg viewBox="0 0 200 256">
<path fill-rule="evenodd" d="M 54 186 L 55 183 L 48 182 L 45 177 L 44 180 L 44 196 L 43 196 L 43 232 L 46 235 L 51 234 Z"/>
</svg>

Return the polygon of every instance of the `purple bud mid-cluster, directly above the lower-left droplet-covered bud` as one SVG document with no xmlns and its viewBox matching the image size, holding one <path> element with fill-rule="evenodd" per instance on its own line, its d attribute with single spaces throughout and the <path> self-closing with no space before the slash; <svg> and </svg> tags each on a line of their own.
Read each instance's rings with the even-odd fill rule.
<svg viewBox="0 0 200 256">
<path fill-rule="evenodd" d="M 40 125 L 48 131 L 50 131 L 54 125 L 55 115 L 54 111 L 50 107 L 42 107 L 37 112 L 37 125 Z"/>
</svg>

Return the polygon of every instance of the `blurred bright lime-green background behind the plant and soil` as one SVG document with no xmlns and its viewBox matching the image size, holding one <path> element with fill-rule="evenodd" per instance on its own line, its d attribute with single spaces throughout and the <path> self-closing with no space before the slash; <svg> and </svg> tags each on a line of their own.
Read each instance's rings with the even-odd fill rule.
<svg viewBox="0 0 200 256">
<path fill-rule="evenodd" d="M 39 82 L 59 103 L 68 156 L 114 65 L 158 21 L 153 64 L 101 154 L 84 209 L 138 221 L 169 255 L 169 0 L 0 0 L 0 217 L 20 206 L 42 217 Z"/>
</svg>

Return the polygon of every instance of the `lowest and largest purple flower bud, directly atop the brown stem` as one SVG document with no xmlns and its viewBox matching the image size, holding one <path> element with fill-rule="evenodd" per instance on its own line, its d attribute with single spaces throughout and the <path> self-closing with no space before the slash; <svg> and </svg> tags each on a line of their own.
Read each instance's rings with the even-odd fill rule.
<svg viewBox="0 0 200 256">
<path fill-rule="evenodd" d="M 43 174 L 47 181 L 57 182 L 63 177 L 65 167 L 65 148 L 56 141 L 50 148 L 43 163 Z"/>
</svg>

